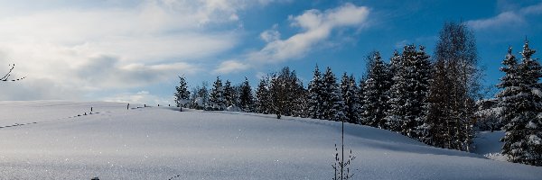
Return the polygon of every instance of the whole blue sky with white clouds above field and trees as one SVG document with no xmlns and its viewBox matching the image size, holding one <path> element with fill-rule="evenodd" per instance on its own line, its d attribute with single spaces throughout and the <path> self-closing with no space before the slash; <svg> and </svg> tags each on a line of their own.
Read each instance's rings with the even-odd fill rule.
<svg viewBox="0 0 542 180">
<path fill-rule="evenodd" d="M 306 85 L 316 64 L 360 77 L 372 50 L 433 55 L 446 21 L 474 32 L 483 85 L 498 83 L 509 46 L 542 47 L 541 1 L 0 0 L 0 72 L 27 76 L 0 100 L 171 103 L 178 75 L 256 86 L 288 66 Z"/>
</svg>

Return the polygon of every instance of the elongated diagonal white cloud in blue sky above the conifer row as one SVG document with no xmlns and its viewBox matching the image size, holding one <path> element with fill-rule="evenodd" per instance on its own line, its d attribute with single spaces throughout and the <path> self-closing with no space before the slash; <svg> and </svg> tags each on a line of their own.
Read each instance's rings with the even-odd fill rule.
<svg viewBox="0 0 542 180">
<path fill-rule="evenodd" d="M 315 45 L 326 40 L 332 30 L 341 27 L 363 27 L 368 15 L 369 8 L 365 6 L 344 4 L 324 12 L 313 9 L 298 16 L 290 16 L 291 25 L 301 28 L 302 32 L 285 40 L 266 39 L 271 41 L 268 41 L 263 49 L 250 53 L 248 59 L 281 62 L 292 58 L 302 58 Z"/>
</svg>

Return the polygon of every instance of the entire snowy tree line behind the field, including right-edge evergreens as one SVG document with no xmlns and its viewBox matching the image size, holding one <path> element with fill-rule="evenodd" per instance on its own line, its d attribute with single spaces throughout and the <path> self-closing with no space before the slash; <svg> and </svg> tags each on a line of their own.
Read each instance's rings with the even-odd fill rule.
<svg viewBox="0 0 542 180">
<path fill-rule="evenodd" d="M 541 67 L 531 58 L 528 42 L 518 63 L 509 55 L 497 94 L 506 124 L 503 154 L 510 161 L 542 166 Z M 210 91 L 207 84 L 187 90 L 180 77 L 175 102 L 203 110 L 257 112 L 330 121 L 346 121 L 392 130 L 438 148 L 472 150 L 474 125 L 481 121 L 481 99 L 476 43 L 464 23 L 444 23 L 434 56 L 424 46 L 406 45 L 385 62 L 378 51 L 368 56 L 365 76 L 356 80 L 331 67 L 316 66 L 305 88 L 289 67 L 260 79 L 253 93 L 248 79 L 241 85 L 222 84 L 220 76 Z"/>
</svg>

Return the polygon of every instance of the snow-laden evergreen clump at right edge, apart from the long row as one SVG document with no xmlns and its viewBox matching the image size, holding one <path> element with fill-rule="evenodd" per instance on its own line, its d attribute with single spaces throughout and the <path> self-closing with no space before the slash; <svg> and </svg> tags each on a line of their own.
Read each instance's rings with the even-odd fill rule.
<svg viewBox="0 0 542 180">
<path fill-rule="evenodd" d="M 507 73 L 500 84 L 504 87 L 499 94 L 504 106 L 502 118 L 508 122 L 504 126 L 507 133 L 501 140 L 504 141 L 502 153 L 509 161 L 542 166 L 542 97 L 538 83 L 542 67 L 531 58 L 535 52 L 528 48 L 526 40 L 517 68 L 513 68 L 514 59 L 509 56 L 503 62 L 507 67 L 502 70 L 510 74 Z M 517 71 L 514 73 L 513 69 Z"/>
</svg>

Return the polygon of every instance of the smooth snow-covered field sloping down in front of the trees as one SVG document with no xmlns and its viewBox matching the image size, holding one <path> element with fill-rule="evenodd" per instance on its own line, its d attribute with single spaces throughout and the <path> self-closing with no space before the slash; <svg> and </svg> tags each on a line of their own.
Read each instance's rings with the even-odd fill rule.
<svg viewBox="0 0 542 180">
<path fill-rule="evenodd" d="M 0 102 L 0 113 L 0 179 L 331 179 L 341 142 L 339 122 L 255 113 L 57 101 Z M 387 130 L 345 133 L 354 179 L 542 178 Z"/>
</svg>

